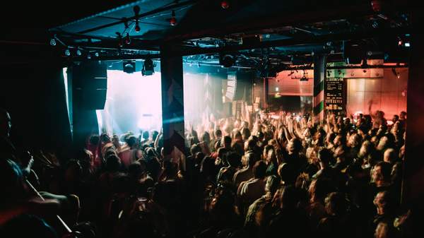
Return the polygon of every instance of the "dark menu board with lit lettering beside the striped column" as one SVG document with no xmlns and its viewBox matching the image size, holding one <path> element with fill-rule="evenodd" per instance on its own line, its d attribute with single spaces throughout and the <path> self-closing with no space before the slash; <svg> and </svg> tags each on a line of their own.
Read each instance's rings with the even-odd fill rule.
<svg viewBox="0 0 424 238">
<path fill-rule="evenodd" d="M 346 82 L 343 78 L 326 78 L 325 109 L 342 113 L 346 109 Z"/>
</svg>

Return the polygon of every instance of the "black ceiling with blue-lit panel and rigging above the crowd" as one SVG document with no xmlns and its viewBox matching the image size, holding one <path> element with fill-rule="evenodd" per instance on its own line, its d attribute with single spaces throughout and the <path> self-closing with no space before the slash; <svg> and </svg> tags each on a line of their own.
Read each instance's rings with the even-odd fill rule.
<svg viewBox="0 0 424 238">
<path fill-rule="evenodd" d="M 63 54 L 70 47 L 74 60 L 81 58 L 74 54 L 76 49 L 83 51 L 82 56 L 98 52 L 104 59 L 127 59 L 159 54 L 167 44 L 175 54 L 217 59 L 218 53 L 230 52 L 242 62 L 246 58 L 286 61 L 320 52 L 337 58 L 346 41 L 363 40 L 367 50 L 384 55 L 397 37 L 411 32 L 408 1 L 384 2 L 389 7 L 381 12 L 372 11 L 371 0 L 230 0 L 228 9 L 221 8 L 219 0 L 16 3 L 10 18 L 6 13 L 11 8 L 2 10 L 6 34 L 0 37 L 0 47 L 48 47 L 49 38 L 56 36 L 57 46 L 49 49 Z M 140 8 L 140 32 L 134 30 L 134 6 Z M 169 23 L 172 10 L 175 26 Z M 129 33 L 131 43 L 120 47 L 117 32 Z"/>
</svg>

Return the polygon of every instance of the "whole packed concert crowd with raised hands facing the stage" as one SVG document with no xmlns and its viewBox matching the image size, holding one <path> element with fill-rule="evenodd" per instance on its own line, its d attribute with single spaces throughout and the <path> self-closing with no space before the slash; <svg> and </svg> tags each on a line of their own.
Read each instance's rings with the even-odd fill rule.
<svg viewBox="0 0 424 238">
<path fill-rule="evenodd" d="M 0 237 L 404 238 L 418 229 L 401 206 L 406 112 L 390 125 L 380 111 L 216 119 L 187 129 L 179 154 L 164 151 L 162 131 L 92 135 L 70 160 L 17 153 L 10 117 L 0 118 Z"/>
</svg>

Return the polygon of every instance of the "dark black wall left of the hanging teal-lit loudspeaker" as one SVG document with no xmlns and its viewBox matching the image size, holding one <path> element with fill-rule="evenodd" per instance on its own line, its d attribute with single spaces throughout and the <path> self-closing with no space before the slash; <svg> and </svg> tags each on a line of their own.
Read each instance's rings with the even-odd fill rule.
<svg viewBox="0 0 424 238">
<path fill-rule="evenodd" d="M 62 66 L 55 60 L 0 64 L 0 107 L 11 114 L 18 148 L 64 152 L 71 145 Z"/>
</svg>

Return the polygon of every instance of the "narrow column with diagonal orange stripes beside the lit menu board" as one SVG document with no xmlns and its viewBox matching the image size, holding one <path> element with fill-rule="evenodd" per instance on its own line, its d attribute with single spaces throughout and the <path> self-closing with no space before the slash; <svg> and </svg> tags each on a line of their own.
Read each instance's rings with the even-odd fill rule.
<svg viewBox="0 0 424 238">
<path fill-rule="evenodd" d="M 324 121 L 324 81 L 326 76 L 326 55 L 314 57 L 314 98 L 312 110 L 314 123 Z"/>
</svg>

